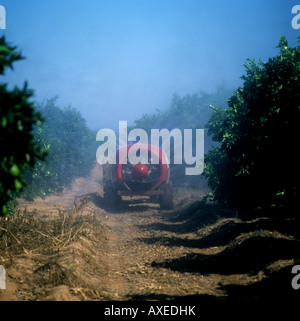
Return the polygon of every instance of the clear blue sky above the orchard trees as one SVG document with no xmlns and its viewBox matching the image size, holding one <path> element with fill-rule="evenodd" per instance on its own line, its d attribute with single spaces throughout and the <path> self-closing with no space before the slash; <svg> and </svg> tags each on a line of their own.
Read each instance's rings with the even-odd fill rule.
<svg viewBox="0 0 300 321">
<path fill-rule="evenodd" d="M 172 95 L 241 85 L 247 58 L 297 45 L 291 0 L 0 0 L 25 60 L 1 82 L 25 80 L 36 101 L 56 95 L 93 129 L 132 124 Z"/>
</svg>

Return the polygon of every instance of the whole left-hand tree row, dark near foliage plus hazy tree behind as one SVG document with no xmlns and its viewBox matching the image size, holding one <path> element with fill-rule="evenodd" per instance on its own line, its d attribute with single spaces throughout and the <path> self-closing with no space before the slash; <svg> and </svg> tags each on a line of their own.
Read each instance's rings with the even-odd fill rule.
<svg viewBox="0 0 300 321">
<path fill-rule="evenodd" d="M 22 59 L 0 38 L 0 76 Z M 89 172 L 95 160 L 95 135 L 73 108 L 56 99 L 32 101 L 33 91 L 0 84 L 0 215 L 13 211 L 16 197 L 33 200 L 60 192 Z"/>
</svg>

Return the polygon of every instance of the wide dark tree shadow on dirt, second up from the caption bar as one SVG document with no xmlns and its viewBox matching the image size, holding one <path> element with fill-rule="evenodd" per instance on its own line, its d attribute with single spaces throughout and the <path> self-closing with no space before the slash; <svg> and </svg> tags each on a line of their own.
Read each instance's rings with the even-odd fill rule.
<svg viewBox="0 0 300 321">
<path fill-rule="evenodd" d="M 299 257 L 299 246 L 299 241 L 255 235 L 236 240 L 217 254 L 188 254 L 151 265 L 201 274 L 256 274 L 276 260 Z"/>
</svg>

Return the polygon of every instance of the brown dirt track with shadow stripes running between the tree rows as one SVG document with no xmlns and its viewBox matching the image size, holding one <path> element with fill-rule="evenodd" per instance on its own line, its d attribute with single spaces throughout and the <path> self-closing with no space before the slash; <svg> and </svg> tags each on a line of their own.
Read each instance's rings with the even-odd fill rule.
<svg viewBox="0 0 300 321">
<path fill-rule="evenodd" d="M 175 190 L 176 210 L 169 211 L 134 198 L 124 200 L 118 212 L 108 212 L 101 193 L 101 170 L 95 168 L 63 195 L 19 202 L 21 210 L 55 216 L 58 209 L 74 206 L 74 200 L 84 200 L 81 214 L 96 217 L 98 232 L 51 254 L 26 251 L 13 261 L 0 256 L 7 271 L 0 300 L 257 297 L 261 285 L 278 275 L 289 292 L 290 276 L 285 280 L 280 273 L 286 277 L 294 264 L 298 241 L 293 230 L 287 235 L 264 218 L 242 222 L 214 207 L 201 208 L 199 191 Z"/>
</svg>

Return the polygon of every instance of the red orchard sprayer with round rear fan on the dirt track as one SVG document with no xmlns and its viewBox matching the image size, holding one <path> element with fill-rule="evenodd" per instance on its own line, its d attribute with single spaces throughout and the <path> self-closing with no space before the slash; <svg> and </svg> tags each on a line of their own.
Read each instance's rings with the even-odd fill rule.
<svg viewBox="0 0 300 321">
<path fill-rule="evenodd" d="M 141 159 L 139 154 L 148 157 Z M 103 166 L 103 198 L 108 209 L 118 208 L 122 196 L 148 196 L 161 209 L 173 208 L 170 167 L 162 148 L 128 144 L 117 150 L 116 160 Z"/>
</svg>

